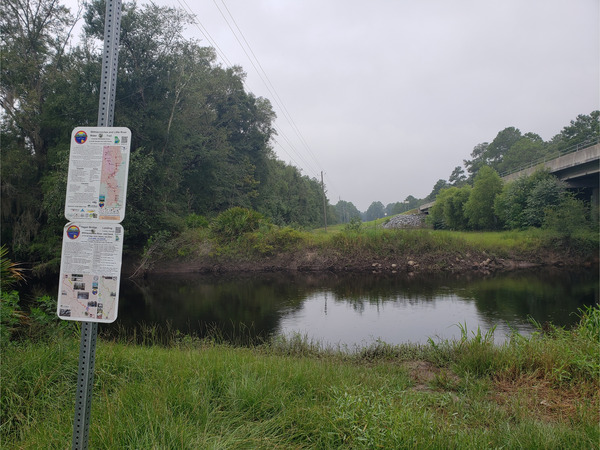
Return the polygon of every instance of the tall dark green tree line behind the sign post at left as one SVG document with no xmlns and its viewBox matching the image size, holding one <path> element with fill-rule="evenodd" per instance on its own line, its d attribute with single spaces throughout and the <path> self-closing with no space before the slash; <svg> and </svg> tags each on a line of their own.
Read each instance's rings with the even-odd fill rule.
<svg viewBox="0 0 600 450">
<path fill-rule="evenodd" d="M 13 258 L 47 261 L 65 224 L 71 131 L 97 124 L 105 3 L 86 3 L 80 17 L 56 0 L 0 8 L 2 243 Z M 122 6 L 114 124 L 132 131 L 127 245 L 232 207 L 275 224 L 323 224 L 321 183 L 273 152 L 270 102 L 245 89 L 242 68 L 183 36 L 192 23 L 180 9 Z"/>
</svg>

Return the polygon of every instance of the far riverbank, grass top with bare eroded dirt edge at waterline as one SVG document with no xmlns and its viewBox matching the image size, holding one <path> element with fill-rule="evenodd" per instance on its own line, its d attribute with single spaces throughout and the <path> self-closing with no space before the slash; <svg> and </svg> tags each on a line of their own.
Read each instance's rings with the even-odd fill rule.
<svg viewBox="0 0 600 450">
<path fill-rule="evenodd" d="M 598 264 L 598 236 L 560 236 L 545 230 L 451 232 L 429 229 L 299 232 L 289 228 L 229 240 L 187 230 L 153 242 L 126 259 L 127 276 L 159 273 L 375 272 L 407 274 L 493 272 Z"/>
</svg>

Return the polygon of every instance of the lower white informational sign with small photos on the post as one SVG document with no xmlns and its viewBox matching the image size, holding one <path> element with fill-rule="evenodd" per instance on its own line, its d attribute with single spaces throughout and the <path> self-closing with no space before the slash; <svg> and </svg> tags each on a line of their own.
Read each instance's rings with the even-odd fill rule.
<svg viewBox="0 0 600 450">
<path fill-rule="evenodd" d="M 114 322 L 122 255 L 121 225 L 68 223 L 63 230 L 58 316 L 80 322 Z"/>
</svg>

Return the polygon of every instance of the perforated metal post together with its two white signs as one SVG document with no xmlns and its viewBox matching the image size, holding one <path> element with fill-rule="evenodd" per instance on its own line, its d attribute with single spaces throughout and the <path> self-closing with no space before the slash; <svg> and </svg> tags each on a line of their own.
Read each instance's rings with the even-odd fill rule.
<svg viewBox="0 0 600 450">
<path fill-rule="evenodd" d="M 131 131 L 113 128 L 121 0 L 107 0 L 98 126 L 71 135 L 57 314 L 81 322 L 73 449 L 87 449 L 98 323 L 116 320 Z"/>
</svg>

